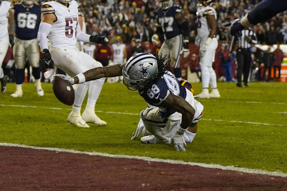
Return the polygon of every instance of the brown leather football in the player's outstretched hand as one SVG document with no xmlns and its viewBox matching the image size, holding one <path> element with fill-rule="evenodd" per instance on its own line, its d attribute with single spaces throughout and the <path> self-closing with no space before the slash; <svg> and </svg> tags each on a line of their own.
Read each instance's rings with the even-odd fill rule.
<svg viewBox="0 0 287 191">
<path fill-rule="evenodd" d="M 53 91 L 56 98 L 66 105 L 73 105 L 75 99 L 74 88 L 68 81 L 59 76 L 54 77 Z"/>
</svg>

